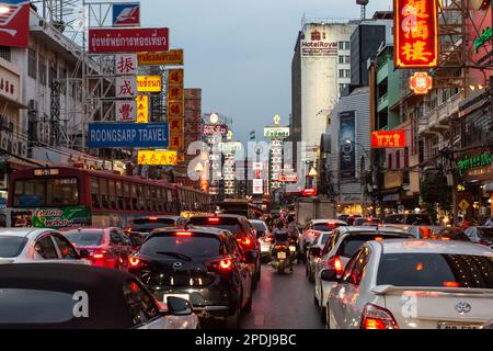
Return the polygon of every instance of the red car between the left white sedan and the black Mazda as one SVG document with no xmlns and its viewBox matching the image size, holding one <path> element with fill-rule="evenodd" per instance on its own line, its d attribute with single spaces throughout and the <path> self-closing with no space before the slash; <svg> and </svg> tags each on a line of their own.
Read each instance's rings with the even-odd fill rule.
<svg viewBox="0 0 493 351">
<path fill-rule="evenodd" d="M 128 260 L 135 250 L 124 230 L 116 227 L 79 228 L 64 233 L 76 249 L 85 249 L 93 265 L 128 270 Z"/>
</svg>

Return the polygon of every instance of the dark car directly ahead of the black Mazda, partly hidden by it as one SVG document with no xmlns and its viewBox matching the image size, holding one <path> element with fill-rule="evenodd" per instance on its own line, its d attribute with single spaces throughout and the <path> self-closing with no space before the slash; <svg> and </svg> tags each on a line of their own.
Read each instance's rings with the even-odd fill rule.
<svg viewBox="0 0 493 351">
<path fill-rule="evenodd" d="M 253 290 L 255 290 L 262 272 L 261 244 L 256 238 L 255 229 L 246 217 L 240 215 L 194 216 L 190 218 L 188 226 L 214 227 L 231 231 L 245 253 L 246 263 L 252 265 Z"/>
</svg>

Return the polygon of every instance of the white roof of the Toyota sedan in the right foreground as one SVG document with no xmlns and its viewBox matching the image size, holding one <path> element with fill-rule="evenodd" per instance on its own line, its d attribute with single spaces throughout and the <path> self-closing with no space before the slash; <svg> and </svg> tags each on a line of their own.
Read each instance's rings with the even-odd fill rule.
<svg viewBox="0 0 493 351">
<path fill-rule="evenodd" d="M 372 245 L 379 245 L 383 253 L 447 253 L 493 258 L 493 251 L 489 248 L 467 241 L 390 239 L 374 241 Z"/>
</svg>

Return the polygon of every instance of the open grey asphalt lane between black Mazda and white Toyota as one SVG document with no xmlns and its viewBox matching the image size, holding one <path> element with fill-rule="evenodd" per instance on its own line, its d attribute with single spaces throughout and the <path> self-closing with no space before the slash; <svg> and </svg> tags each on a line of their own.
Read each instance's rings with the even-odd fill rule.
<svg viewBox="0 0 493 351">
<path fill-rule="evenodd" d="M 278 274 L 262 265 L 262 279 L 254 293 L 252 312 L 241 320 L 243 329 L 324 329 L 313 304 L 313 284 L 305 275 L 305 264 L 294 273 Z"/>
</svg>

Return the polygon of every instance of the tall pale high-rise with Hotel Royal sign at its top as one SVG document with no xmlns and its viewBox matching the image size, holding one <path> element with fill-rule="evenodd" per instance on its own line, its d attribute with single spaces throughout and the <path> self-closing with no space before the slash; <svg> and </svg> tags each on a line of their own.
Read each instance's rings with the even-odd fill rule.
<svg viewBox="0 0 493 351">
<path fill-rule="evenodd" d="M 302 160 L 316 161 L 326 117 L 351 82 L 351 34 L 357 21 L 306 20 L 291 63 L 293 125 L 290 141 L 306 143 Z M 340 57 L 342 60 L 340 61 Z M 298 155 L 298 150 L 295 150 Z"/>
</svg>

